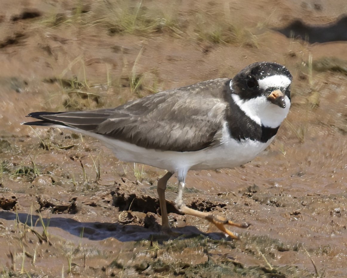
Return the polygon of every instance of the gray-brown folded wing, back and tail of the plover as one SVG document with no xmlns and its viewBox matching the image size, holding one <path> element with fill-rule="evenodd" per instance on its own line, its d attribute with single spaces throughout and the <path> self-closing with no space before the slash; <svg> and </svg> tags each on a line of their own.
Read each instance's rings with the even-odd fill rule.
<svg viewBox="0 0 347 278">
<path fill-rule="evenodd" d="M 43 121 L 25 124 L 56 123 L 107 135 L 147 149 L 197 151 L 213 144 L 223 124 L 227 106 L 223 87 L 227 81 L 230 79 L 200 82 L 113 109 L 31 113 L 28 116 Z"/>
</svg>

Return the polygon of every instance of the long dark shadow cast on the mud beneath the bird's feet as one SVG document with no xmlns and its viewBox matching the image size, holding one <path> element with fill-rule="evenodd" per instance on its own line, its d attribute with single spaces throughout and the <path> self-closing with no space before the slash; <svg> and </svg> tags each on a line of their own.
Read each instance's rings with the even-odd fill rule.
<svg viewBox="0 0 347 278">
<path fill-rule="evenodd" d="M 45 227 L 61 228 L 72 235 L 84 237 L 90 240 L 104 240 L 113 237 L 121 242 L 152 240 L 161 243 L 170 239 L 186 239 L 201 235 L 213 240 L 230 240 L 230 238 L 225 236 L 224 233 L 203 233 L 195 226 L 172 228 L 173 233 L 167 234 L 160 231 L 153 231 L 150 228 L 138 225 L 105 222 L 79 222 L 75 219 L 65 217 L 42 218 L 41 221 L 37 215 L 14 213 L 5 210 L 0 212 L 0 219 L 17 220 L 29 227 L 41 227 L 43 223 Z"/>
</svg>

